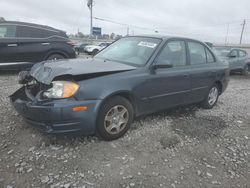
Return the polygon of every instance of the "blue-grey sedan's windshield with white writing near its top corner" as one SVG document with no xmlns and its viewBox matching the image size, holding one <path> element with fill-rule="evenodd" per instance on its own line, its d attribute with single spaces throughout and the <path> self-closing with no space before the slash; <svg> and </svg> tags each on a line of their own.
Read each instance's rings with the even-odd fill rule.
<svg viewBox="0 0 250 188">
<path fill-rule="evenodd" d="M 134 66 L 144 66 L 161 40 L 148 37 L 127 37 L 113 43 L 95 57 Z"/>
</svg>

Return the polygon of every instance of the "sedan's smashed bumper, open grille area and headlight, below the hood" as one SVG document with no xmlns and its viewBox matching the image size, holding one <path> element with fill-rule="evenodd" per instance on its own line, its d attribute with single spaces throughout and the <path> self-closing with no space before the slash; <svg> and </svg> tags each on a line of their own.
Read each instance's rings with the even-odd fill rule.
<svg viewBox="0 0 250 188">
<path fill-rule="evenodd" d="M 15 110 L 26 122 L 45 133 L 95 132 L 95 109 L 101 101 L 78 101 L 72 97 L 79 86 L 73 81 L 52 81 L 44 84 L 29 72 L 18 77 L 23 86 L 10 96 Z M 85 110 L 75 112 L 78 107 Z"/>
</svg>

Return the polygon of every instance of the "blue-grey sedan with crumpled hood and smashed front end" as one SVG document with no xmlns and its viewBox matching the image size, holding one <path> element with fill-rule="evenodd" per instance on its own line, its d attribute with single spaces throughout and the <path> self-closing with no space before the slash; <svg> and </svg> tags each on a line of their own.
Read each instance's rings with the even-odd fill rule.
<svg viewBox="0 0 250 188">
<path fill-rule="evenodd" d="M 34 65 L 20 73 L 24 86 L 10 98 L 26 121 L 47 133 L 113 140 L 143 114 L 191 103 L 213 108 L 228 81 L 228 63 L 202 42 L 133 36 L 91 59 Z"/>
</svg>

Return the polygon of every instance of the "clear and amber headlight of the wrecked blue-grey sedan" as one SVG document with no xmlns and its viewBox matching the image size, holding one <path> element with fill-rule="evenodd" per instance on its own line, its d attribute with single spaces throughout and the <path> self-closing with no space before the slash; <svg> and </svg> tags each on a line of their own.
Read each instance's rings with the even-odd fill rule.
<svg viewBox="0 0 250 188">
<path fill-rule="evenodd" d="M 54 81 L 52 87 L 43 92 L 43 96 L 51 99 L 70 98 L 75 95 L 79 85 L 69 81 Z"/>
</svg>

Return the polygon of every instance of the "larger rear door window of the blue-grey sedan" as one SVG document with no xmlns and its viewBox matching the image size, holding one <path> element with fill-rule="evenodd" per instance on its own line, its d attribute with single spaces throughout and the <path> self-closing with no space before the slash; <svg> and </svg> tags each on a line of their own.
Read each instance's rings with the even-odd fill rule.
<svg viewBox="0 0 250 188">
<path fill-rule="evenodd" d="M 188 42 L 191 65 L 207 63 L 205 46 L 197 42 Z"/>
</svg>

